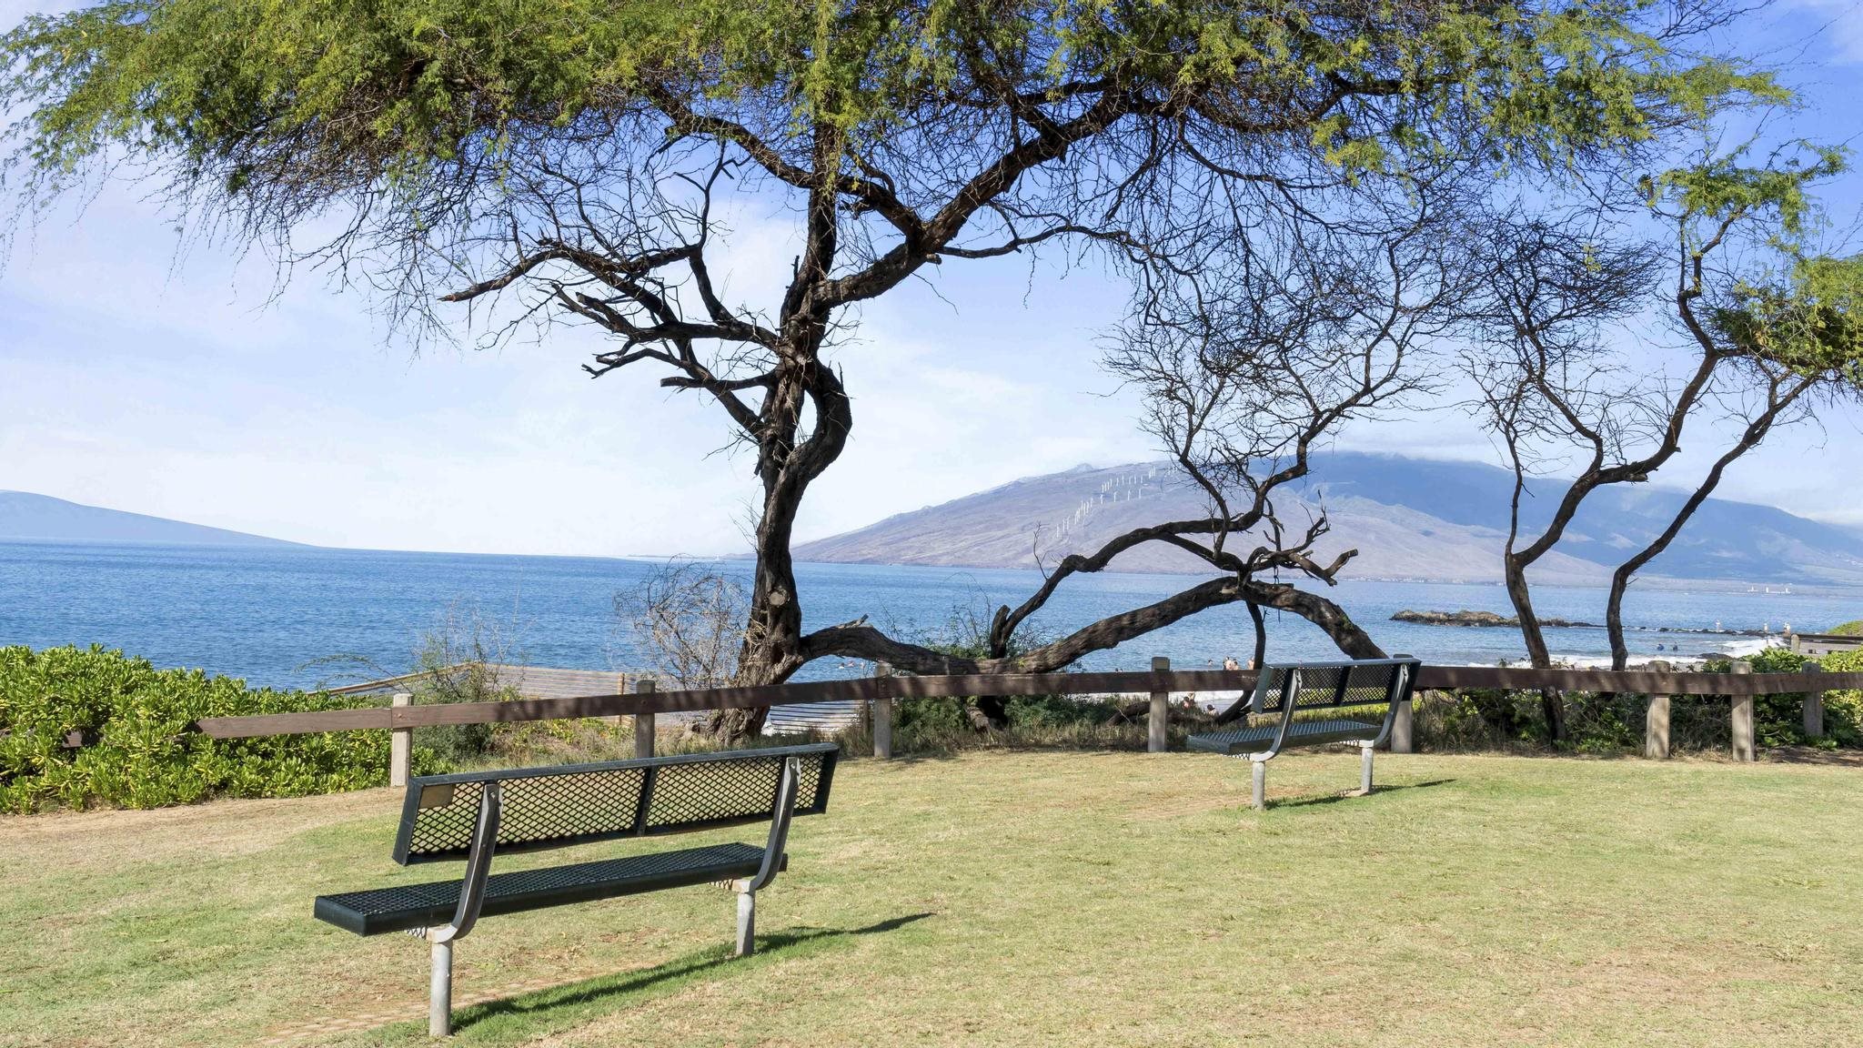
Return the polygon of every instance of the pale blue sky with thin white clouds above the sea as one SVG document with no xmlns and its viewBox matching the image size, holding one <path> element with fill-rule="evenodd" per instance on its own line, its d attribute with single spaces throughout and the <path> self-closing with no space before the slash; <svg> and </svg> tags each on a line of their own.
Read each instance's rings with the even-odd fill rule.
<svg viewBox="0 0 1863 1048">
<path fill-rule="evenodd" d="M 47 7 L 0 0 L 0 24 Z M 1863 7 L 1807 0 L 1759 19 L 1811 101 L 1792 131 L 1857 136 Z M 1850 177 L 1829 201 L 1852 214 L 1859 188 Z M 771 295 L 768 274 L 792 254 L 788 216 L 734 226 L 732 282 Z M 855 433 L 810 492 L 801 537 L 1019 476 L 1153 457 L 1133 399 L 1095 365 L 1118 287 L 1017 259 L 954 261 L 932 280 L 868 304 L 838 351 Z M 414 356 L 319 274 L 274 289 L 261 257 L 183 250 L 132 186 L 43 220 L 0 270 L 0 489 L 339 546 L 741 548 L 756 489 L 747 457 L 719 451 L 717 412 L 646 373 L 587 379 L 592 336 Z M 1684 466 L 1699 468 L 1710 448 L 1692 444 Z M 1448 412 L 1358 427 L 1341 446 L 1492 457 Z M 1775 434 L 1723 494 L 1863 524 L 1841 481 L 1857 461 L 1863 412 L 1850 408 L 1822 431 Z"/>
</svg>

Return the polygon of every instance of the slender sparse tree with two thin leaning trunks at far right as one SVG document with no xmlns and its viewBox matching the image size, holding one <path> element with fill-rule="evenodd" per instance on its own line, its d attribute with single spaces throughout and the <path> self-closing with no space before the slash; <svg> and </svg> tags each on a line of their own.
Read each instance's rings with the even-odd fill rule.
<svg viewBox="0 0 1863 1048">
<path fill-rule="evenodd" d="M 1857 390 L 1863 265 L 1813 248 L 1813 188 L 1844 170 L 1844 155 L 1792 144 L 1749 164 L 1747 153 L 1708 153 L 1641 179 L 1634 207 L 1652 222 L 1626 228 L 1593 205 L 1485 224 L 1470 313 L 1487 338 L 1464 369 L 1515 476 L 1502 563 L 1533 666 L 1550 666 L 1552 653 L 1528 571 L 1565 541 L 1595 492 L 1673 474 L 1684 436 L 1693 444 L 1716 421 L 1734 431 L 1654 537 L 1611 571 L 1606 630 L 1623 669 L 1623 600 L 1636 572 L 1774 429 Z M 1572 477 L 1530 518 L 1530 479 L 1559 470 Z M 1546 692 L 1544 703 L 1557 738 L 1561 699 Z"/>
</svg>

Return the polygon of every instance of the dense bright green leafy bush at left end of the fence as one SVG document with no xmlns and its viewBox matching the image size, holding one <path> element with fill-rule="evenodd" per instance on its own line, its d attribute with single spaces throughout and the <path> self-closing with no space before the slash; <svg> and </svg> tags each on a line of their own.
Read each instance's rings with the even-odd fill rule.
<svg viewBox="0 0 1863 1048">
<path fill-rule="evenodd" d="M 91 647 L 0 647 L 0 811 L 160 807 L 212 796 L 304 796 L 388 781 L 388 731 L 216 740 L 203 716 L 333 710 L 374 699 L 248 688 Z M 65 748 L 67 733 L 84 746 Z M 440 770 L 415 752 L 415 770 Z"/>
</svg>

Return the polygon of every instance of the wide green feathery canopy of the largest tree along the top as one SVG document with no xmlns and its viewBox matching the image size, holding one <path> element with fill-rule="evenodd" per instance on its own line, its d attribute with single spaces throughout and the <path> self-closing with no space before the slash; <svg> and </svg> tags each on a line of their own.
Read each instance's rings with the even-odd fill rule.
<svg viewBox="0 0 1863 1048">
<path fill-rule="evenodd" d="M 294 220 L 436 170 L 497 179 L 516 142 L 617 132 L 607 121 L 669 99 L 766 134 L 838 127 L 859 153 L 1000 106 L 1004 88 L 1116 82 L 1174 103 L 1136 112 L 1308 138 L 1371 172 L 1470 142 L 1552 166 L 1787 97 L 1768 75 L 1671 50 L 1660 26 L 1628 0 L 108 0 L 0 39 L 0 108 L 24 112 L 20 157 L 54 183 L 132 147 Z M 1364 88 L 1354 104 L 1293 106 L 1282 125 L 1291 99 L 1339 84 Z"/>
</svg>

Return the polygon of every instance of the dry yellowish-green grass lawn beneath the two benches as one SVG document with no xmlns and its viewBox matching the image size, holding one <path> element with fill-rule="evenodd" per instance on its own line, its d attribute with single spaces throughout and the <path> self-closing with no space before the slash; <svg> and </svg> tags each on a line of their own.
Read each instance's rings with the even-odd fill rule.
<svg viewBox="0 0 1863 1048">
<path fill-rule="evenodd" d="M 460 1044 L 1857 1044 L 1863 770 L 1291 753 L 846 761 L 727 960 L 689 888 L 488 917 Z M 0 1044 L 423 1044 L 311 919 L 399 793 L 0 819 Z M 719 839 L 756 839 L 755 832 Z M 684 847 L 699 837 L 648 841 Z M 624 854 L 522 856 L 494 869 Z M 537 988 L 544 986 L 544 988 Z"/>
</svg>

